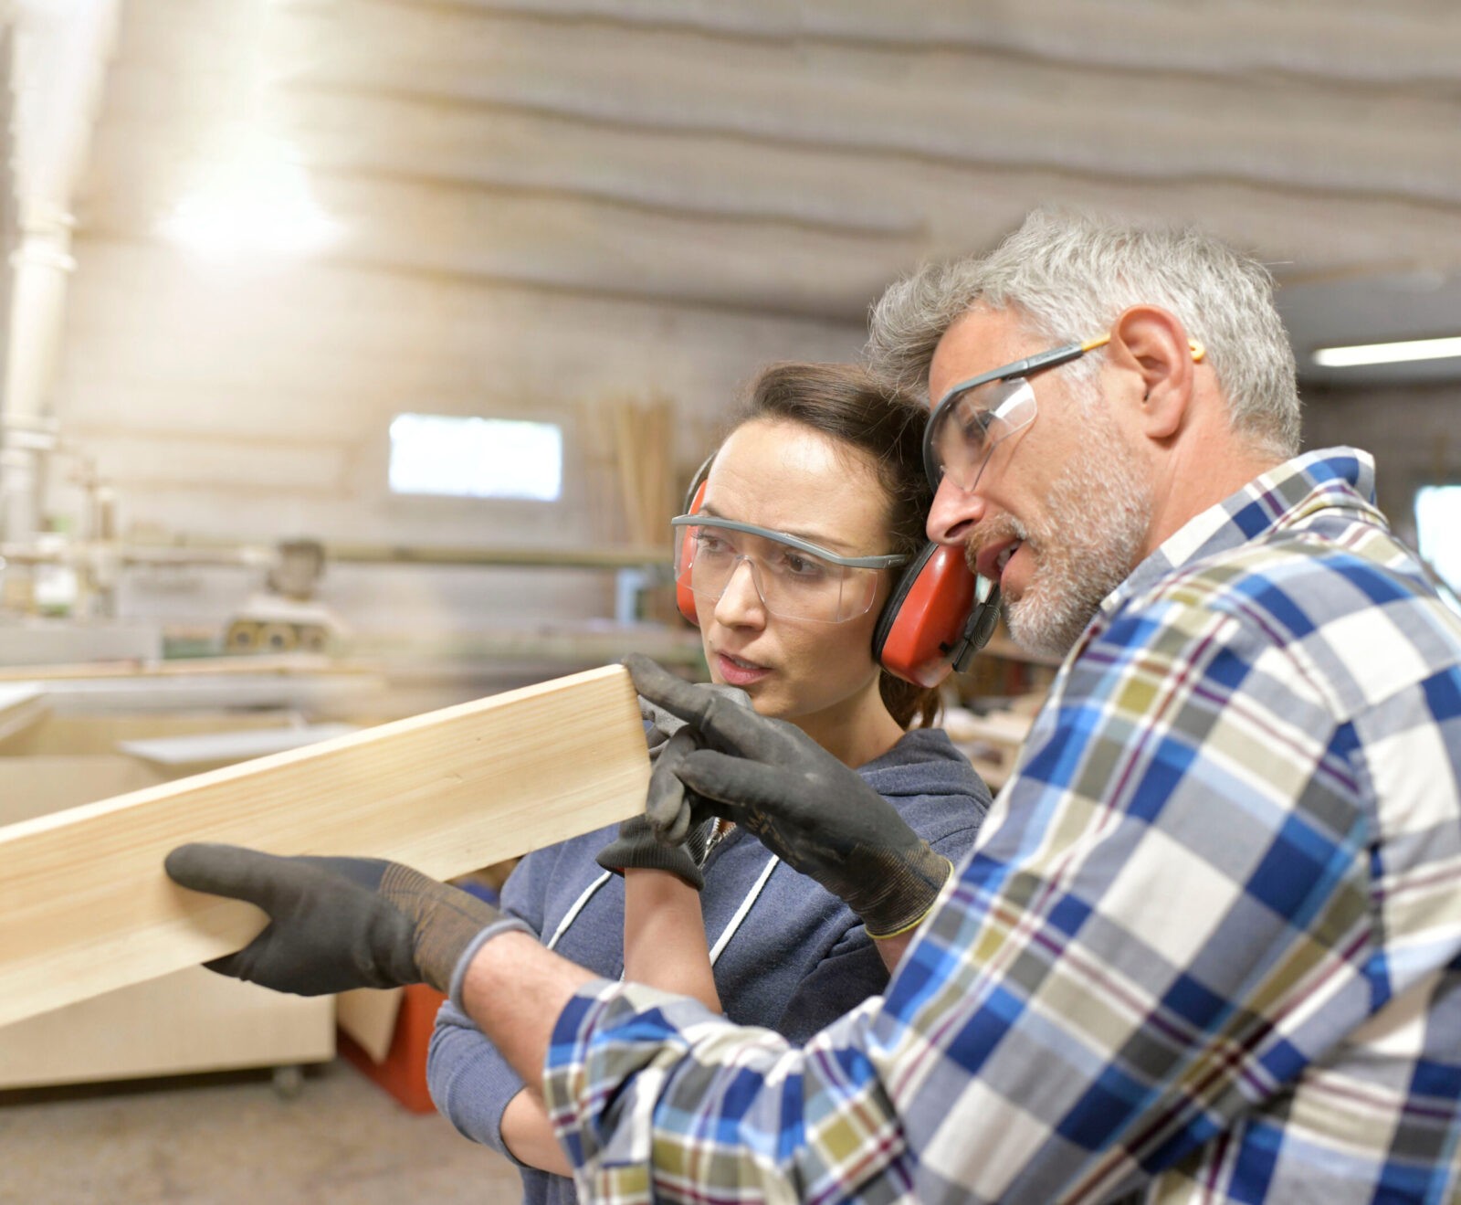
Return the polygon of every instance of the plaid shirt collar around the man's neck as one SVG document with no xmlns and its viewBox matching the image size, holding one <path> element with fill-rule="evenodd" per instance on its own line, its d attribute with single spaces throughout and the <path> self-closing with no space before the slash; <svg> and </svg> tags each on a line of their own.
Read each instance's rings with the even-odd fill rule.
<svg viewBox="0 0 1461 1205">
<path fill-rule="evenodd" d="M 1316 510 L 1350 509 L 1386 526 L 1375 506 L 1375 458 L 1359 447 L 1324 447 L 1284 461 L 1236 494 L 1189 519 L 1102 602 L 1113 614 L 1128 598 L 1175 569 L 1256 537 L 1296 526 Z"/>
</svg>

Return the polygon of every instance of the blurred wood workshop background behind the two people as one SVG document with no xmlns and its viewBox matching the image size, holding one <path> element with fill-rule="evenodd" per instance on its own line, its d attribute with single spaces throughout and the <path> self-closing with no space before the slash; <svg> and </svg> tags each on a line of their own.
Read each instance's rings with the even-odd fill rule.
<svg viewBox="0 0 1461 1205">
<path fill-rule="evenodd" d="M 668 521 L 744 385 L 1042 203 L 1268 262 L 1305 445 L 1372 450 L 1461 589 L 1445 0 L 0 22 L 0 825 L 634 649 L 703 674 Z M 947 687 L 991 782 L 1050 674 L 996 635 Z M 0 1201 L 516 1199 L 422 1101 L 419 1002 L 221 983 L 0 1027 Z"/>
</svg>

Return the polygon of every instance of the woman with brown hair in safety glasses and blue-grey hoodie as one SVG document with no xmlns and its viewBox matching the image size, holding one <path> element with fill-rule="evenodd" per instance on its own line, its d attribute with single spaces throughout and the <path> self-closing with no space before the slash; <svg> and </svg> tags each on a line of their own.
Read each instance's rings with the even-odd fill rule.
<svg viewBox="0 0 1461 1205">
<path fill-rule="evenodd" d="M 989 791 L 929 727 L 937 692 L 875 652 L 925 547 L 926 415 L 850 366 L 764 371 L 675 521 L 676 583 L 713 681 L 856 768 L 957 861 Z M 888 959 L 840 899 L 735 828 L 712 825 L 690 845 L 656 845 L 631 822 L 541 850 L 513 872 L 503 908 L 598 974 L 688 991 L 793 1041 L 882 990 Z M 574 1199 L 538 1085 L 451 1005 L 428 1078 L 462 1133 L 522 1166 L 526 1201 Z"/>
</svg>

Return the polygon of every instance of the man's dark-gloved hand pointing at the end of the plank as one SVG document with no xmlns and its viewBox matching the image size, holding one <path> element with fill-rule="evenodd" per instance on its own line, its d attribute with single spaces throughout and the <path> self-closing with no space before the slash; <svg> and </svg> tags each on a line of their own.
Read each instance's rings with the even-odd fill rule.
<svg viewBox="0 0 1461 1205">
<path fill-rule="evenodd" d="M 687 721 L 703 746 L 656 766 L 646 816 L 657 832 L 688 828 L 703 810 L 735 820 L 842 898 L 872 937 L 894 937 L 928 914 L 953 867 L 862 775 L 795 725 L 726 706 L 647 657 L 631 654 L 624 665 L 636 690 Z"/>
</svg>

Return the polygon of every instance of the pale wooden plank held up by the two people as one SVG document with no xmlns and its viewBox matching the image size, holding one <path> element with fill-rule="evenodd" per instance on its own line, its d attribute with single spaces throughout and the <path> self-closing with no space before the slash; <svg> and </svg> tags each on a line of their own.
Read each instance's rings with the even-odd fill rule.
<svg viewBox="0 0 1461 1205">
<path fill-rule="evenodd" d="M 184 841 L 389 857 L 451 877 L 621 820 L 649 758 L 618 665 L 0 829 L 0 1025 L 245 945 L 244 904 L 175 886 Z"/>
</svg>

